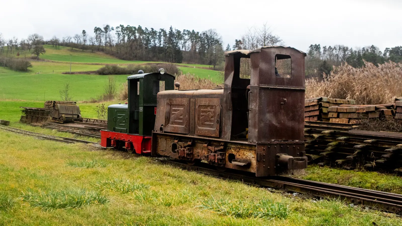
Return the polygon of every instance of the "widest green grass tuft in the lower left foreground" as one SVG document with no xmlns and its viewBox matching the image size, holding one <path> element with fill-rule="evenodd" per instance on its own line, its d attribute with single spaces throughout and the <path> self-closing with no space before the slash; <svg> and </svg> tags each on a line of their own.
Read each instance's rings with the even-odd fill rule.
<svg viewBox="0 0 402 226">
<path fill-rule="evenodd" d="M 27 192 L 23 193 L 22 200 L 29 202 L 33 207 L 40 207 L 42 210 L 53 209 L 76 209 L 92 204 L 105 204 L 109 200 L 100 192 L 79 190 L 61 190 L 49 192 Z"/>
</svg>

